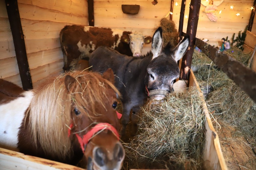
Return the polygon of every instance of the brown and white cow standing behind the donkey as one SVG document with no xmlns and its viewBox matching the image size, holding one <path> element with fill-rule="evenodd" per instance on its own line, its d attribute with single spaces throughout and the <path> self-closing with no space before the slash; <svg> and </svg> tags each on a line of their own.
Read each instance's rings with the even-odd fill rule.
<svg viewBox="0 0 256 170">
<path fill-rule="evenodd" d="M 60 43 L 64 57 L 63 69 L 73 69 L 82 58 L 89 59 L 90 54 L 99 46 L 113 48 L 128 56 L 139 57 L 143 44 L 151 43 L 152 37 L 142 33 L 132 33 L 111 28 L 99 28 L 81 25 L 66 25 L 60 32 Z"/>
</svg>

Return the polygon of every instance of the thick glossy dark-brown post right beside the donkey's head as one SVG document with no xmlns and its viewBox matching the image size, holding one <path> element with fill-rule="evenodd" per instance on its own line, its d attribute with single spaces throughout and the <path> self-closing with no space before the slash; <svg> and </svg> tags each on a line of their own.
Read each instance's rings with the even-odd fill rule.
<svg viewBox="0 0 256 170">
<path fill-rule="evenodd" d="M 187 34 L 190 37 L 189 47 L 181 61 L 180 79 L 189 80 L 192 56 L 194 53 L 195 37 L 197 34 L 197 25 L 199 19 L 201 0 L 191 0 L 189 7 L 189 16 L 187 23 Z"/>
</svg>

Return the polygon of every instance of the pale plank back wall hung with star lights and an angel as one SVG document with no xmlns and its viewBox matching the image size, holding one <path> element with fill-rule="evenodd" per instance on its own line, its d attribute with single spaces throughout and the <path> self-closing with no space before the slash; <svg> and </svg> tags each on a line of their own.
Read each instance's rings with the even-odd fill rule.
<svg viewBox="0 0 256 170">
<path fill-rule="evenodd" d="M 127 31 L 143 31 L 145 35 L 153 35 L 154 30 L 159 26 L 161 18 L 165 17 L 170 11 L 171 0 L 158 0 L 156 5 L 151 2 L 153 0 L 94 0 L 94 18 L 95 26 L 120 28 Z M 202 0 L 204 1 L 204 0 Z M 175 6 L 175 3 L 178 3 Z M 185 15 L 189 15 L 189 2 L 187 1 Z M 121 9 L 122 4 L 137 4 L 140 5 L 139 13 L 136 15 L 124 14 Z M 233 10 L 230 6 L 233 5 Z M 231 39 L 233 33 L 235 37 L 239 31 L 244 31 L 245 26 L 249 23 L 253 0 L 224 0 L 218 6 L 218 10 L 222 10 L 221 14 L 217 13 L 217 22 L 210 21 L 203 12 L 205 6 L 201 4 L 200 16 L 197 28 L 197 38 L 207 38 L 212 45 L 217 45 L 217 41 L 221 42 L 221 38 L 229 37 Z M 181 9 L 181 0 L 174 0 L 173 21 L 178 29 L 179 16 Z M 240 13 L 240 16 L 236 16 Z M 169 16 L 168 16 L 169 18 Z M 183 31 L 187 30 L 187 20 L 184 19 Z M 253 25 L 253 30 L 256 31 L 256 24 Z M 252 31 L 253 32 L 253 31 Z M 143 50 L 143 54 L 150 50 L 150 45 L 147 45 Z"/>
</svg>

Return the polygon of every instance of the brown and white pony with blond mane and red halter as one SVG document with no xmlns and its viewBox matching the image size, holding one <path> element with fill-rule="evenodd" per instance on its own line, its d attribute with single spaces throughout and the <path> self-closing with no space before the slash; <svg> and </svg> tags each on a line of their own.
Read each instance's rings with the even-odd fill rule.
<svg viewBox="0 0 256 170">
<path fill-rule="evenodd" d="M 119 170 L 124 149 L 111 69 L 67 72 L 30 91 L 0 79 L 0 147 L 87 169 Z M 9 88 L 9 90 L 8 90 Z"/>
</svg>

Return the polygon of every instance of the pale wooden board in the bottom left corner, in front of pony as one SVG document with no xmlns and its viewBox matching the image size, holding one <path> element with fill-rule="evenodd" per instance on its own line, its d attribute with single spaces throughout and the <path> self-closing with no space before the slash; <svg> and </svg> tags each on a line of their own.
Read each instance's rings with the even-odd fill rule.
<svg viewBox="0 0 256 170">
<path fill-rule="evenodd" d="M 19 152 L 0 148 L 0 169 L 9 170 L 25 170 L 25 169 L 37 169 L 37 170 L 56 170 L 56 169 L 71 169 L 71 170 L 83 170 L 76 166 L 59 163 L 43 158 L 24 155 Z"/>
</svg>

